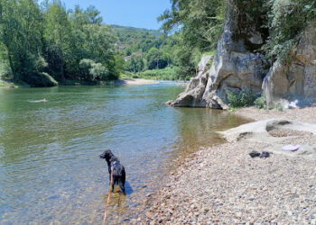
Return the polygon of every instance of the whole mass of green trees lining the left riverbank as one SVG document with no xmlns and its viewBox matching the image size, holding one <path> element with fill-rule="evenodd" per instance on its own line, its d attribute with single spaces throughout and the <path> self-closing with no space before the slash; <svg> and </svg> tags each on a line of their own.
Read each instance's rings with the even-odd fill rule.
<svg viewBox="0 0 316 225">
<path fill-rule="evenodd" d="M 55 85 L 47 74 L 62 82 L 116 79 L 123 59 L 116 58 L 116 36 L 99 14 L 94 6 L 66 11 L 60 0 L 41 7 L 35 0 L 1 1 L 1 76 L 34 86 Z M 80 70 L 84 58 L 94 62 L 88 72 Z"/>
</svg>

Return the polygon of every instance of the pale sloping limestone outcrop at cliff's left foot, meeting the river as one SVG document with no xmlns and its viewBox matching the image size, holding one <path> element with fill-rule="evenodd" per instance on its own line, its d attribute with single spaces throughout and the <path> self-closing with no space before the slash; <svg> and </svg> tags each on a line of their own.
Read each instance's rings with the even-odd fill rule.
<svg viewBox="0 0 316 225">
<path fill-rule="evenodd" d="M 178 95 L 178 98 L 172 103 L 176 107 L 205 107 L 202 96 L 209 79 L 209 67 L 213 56 L 204 56 L 201 58 L 197 76 L 191 78 L 185 91 Z"/>
</svg>

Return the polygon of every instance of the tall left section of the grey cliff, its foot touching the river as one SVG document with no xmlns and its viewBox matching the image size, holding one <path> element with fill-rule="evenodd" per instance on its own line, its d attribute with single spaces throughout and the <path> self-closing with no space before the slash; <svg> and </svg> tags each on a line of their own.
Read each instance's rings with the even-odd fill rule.
<svg viewBox="0 0 316 225">
<path fill-rule="evenodd" d="M 261 47 L 264 38 L 255 26 L 240 27 L 236 8 L 235 1 L 228 1 L 224 31 L 210 70 L 199 70 L 172 105 L 227 109 L 227 90 L 239 93 L 251 89 L 261 94 L 267 69 L 263 55 L 254 51 Z M 205 60 L 202 58 L 200 65 L 205 65 Z"/>
</svg>

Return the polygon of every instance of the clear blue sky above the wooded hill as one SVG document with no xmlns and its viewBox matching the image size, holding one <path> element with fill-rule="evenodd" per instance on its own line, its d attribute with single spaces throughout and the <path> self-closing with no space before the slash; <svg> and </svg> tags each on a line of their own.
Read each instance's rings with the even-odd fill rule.
<svg viewBox="0 0 316 225">
<path fill-rule="evenodd" d="M 123 26 L 154 29 L 160 28 L 157 17 L 171 8 L 170 0 L 62 0 L 67 9 L 79 4 L 87 8 L 90 4 L 101 12 L 103 22 Z"/>
</svg>

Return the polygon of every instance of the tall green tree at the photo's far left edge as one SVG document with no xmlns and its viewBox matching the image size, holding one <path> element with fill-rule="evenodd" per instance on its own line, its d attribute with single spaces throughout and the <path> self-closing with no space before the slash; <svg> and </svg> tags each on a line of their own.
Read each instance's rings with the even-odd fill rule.
<svg viewBox="0 0 316 225">
<path fill-rule="evenodd" d="M 0 40 L 14 80 L 27 81 L 45 67 L 42 48 L 42 16 L 33 0 L 10 0 L 0 3 Z"/>
</svg>

